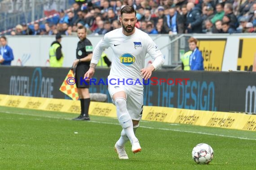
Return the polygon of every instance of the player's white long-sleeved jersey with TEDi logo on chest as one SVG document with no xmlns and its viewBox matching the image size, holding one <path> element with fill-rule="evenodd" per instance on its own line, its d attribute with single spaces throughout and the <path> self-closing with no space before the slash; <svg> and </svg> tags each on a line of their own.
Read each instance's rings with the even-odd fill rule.
<svg viewBox="0 0 256 170">
<path fill-rule="evenodd" d="M 110 77 L 133 80 L 139 78 L 142 82 L 140 70 L 144 68 L 146 54 L 154 59 L 163 58 L 163 55 L 145 32 L 135 28 L 134 34 L 126 36 L 122 33 L 122 29 L 115 29 L 105 34 L 93 51 L 91 63 L 97 64 L 102 51 L 110 47 L 113 51 Z"/>
</svg>

